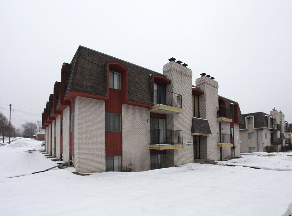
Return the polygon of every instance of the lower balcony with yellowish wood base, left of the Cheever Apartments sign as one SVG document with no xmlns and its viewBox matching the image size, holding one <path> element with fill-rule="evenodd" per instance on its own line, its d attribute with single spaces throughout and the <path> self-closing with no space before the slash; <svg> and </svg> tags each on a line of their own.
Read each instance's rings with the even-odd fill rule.
<svg viewBox="0 0 292 216">
<path fill-rule="evenodd" d="M 148 149 L 183 149 L 183 131 L 168 129 L 150 130 Z"/>
</svg>

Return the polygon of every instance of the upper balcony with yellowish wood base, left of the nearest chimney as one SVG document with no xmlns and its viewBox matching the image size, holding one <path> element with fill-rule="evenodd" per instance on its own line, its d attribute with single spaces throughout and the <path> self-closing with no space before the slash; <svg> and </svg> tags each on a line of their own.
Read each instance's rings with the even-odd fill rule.
<svg viewBox="0 0 292 216">
<path fill-rule="evenodd" d="M 157 89 L 153 91 L 154 105 L 148 108 L 149 112 L 171 114 L 183 113 L 181 95 Z"/>
</svg>

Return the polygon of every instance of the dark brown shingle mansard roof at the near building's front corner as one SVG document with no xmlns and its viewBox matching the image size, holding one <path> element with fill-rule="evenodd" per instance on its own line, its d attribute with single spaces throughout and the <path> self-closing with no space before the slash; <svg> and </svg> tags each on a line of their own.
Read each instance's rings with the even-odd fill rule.
<svg viewBox="0 0 292 216">
<path fill-rule="evenodd" d="M 83 46 L 79 46 L 71 61 L 72 68 L 68 77 L 68 85 L 65 84 L 65 95 L 71 90 L 106 96 L 106 67 L 107 62 L 110 61 L 117 61 L 128 69 L 128 100 L 152 105 L 149 76 L 151 74 L 164 76 L 163 74 Z M 66 80 L 67 78 L 65 78 L 65 82 Z"/>
</svg>

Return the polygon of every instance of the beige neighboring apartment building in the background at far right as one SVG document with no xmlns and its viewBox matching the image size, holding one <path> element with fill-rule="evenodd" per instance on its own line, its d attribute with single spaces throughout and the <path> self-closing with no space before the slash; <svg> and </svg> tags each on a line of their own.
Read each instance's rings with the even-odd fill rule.
<svg viewBox="0 0 292 216">
<path fill-rule="evenodd" d="M 265 146 L 271 145 L 281 151 L 281 147 L 291 144 L 290 127 L 284 117 L 276 109 L 270 115 L 262 112 L 243 114 L 245 124 L 240 125 L 240 152 L 264 152 Z"/>
</svg>

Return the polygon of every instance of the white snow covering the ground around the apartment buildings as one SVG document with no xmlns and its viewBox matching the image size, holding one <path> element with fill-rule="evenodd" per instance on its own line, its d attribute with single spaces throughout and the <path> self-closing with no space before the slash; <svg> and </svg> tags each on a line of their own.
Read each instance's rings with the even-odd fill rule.
<svg viewBox="0 0 292 216">
<path fill-rule="evenodd" d="M 25 138 L 0 147 L 1 215 L 288 216 L 292 212 L 292 156 L 254 153 L 220 162 L 238 167 L 192 163 L 91 176 L 75 175 L 74 168 L 55 168 L 29 175 L 56 165 L 39 152 L 43 148 Z M 250 165 L 264 169 L 243 167 Z"/>
</svg>

